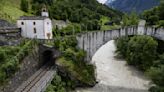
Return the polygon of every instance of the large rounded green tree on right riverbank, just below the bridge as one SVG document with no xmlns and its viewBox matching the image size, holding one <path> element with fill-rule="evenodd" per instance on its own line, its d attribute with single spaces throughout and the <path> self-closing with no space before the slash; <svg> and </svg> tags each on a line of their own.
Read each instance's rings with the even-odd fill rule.
<svg viewBox="0 0 164 92">
<path fill-rule="evenodd" d="M 147 70 L 156 58 L 158 43 L 149 36 L 134 36 L 128 42 L 127 62 L 141 70 Z M 150 54 L 151 53 L 151 54 Z"/>
</svg>

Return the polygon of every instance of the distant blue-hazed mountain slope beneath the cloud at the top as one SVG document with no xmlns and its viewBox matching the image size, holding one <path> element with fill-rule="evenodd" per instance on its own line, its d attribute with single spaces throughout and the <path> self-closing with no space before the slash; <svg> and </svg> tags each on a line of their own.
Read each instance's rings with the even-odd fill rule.
<svg viewBox="0 0 164 92">
<path fill-rule="evenodd" d="M 127 13 L 132 11 L 142 13 L 144 10 L 159 5 L 159 0 L 108 0 L 106 5 Z"/>
</svg>

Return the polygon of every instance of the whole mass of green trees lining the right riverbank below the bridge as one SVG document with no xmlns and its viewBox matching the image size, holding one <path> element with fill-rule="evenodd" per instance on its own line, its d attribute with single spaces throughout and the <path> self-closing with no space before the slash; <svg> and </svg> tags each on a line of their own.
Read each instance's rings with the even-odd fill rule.
<svg viewBox="0 0 164 92">
<path fill-rule="evenodd" d="M 122 37 L 116 40 L 117 52 L 126 59 L 127 64 L 142 70 L 152 79 L 150 92 L 164 92 L 163 44 L 163 41 L 150 36 Z"/>
</svg>

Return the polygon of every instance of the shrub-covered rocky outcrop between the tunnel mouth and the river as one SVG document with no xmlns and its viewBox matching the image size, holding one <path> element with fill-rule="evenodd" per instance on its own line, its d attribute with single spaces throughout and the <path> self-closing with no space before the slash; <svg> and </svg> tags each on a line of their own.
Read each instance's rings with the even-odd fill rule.
<svg viewBox="0 0 164 92">
<path fill-rule="evenodd" d="M 55 46 L 62 53 L 62 56 L 56 60 L 56 65 L 67 89 L 95 85 L 95 67 L 84 61 L 86 53 L 77 48 L 75 37 L 56 39 Z"/>
</svg>

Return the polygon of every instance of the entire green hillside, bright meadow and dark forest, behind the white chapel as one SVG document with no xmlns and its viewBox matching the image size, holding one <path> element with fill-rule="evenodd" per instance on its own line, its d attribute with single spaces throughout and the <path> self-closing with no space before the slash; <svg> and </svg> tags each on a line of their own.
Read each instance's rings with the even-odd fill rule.
<svg viewBox="0 0 164 92">
<path fill-rule="evenodd" d="M 27 3 L 21 7 L 22 1 Z M 15 23 L 23 15 L 40 15 L 42 7 L 48 8 L 52 19 L 78 23 L 82 30 L 100 30 L 103 17 L 118 23 L 122 15 L 96 0 L 1 0 L 0 19 Z"/>
</svg>

